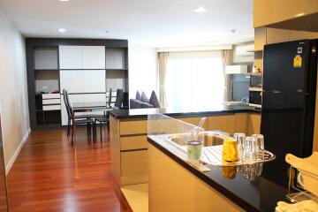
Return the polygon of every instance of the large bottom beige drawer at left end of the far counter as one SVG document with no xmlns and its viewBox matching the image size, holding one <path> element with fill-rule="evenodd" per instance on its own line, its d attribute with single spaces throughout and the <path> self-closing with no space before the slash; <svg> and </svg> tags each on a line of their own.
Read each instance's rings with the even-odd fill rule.
<svg viewBox="0 0 318 212">
<path fill-rule="evenodd" d="M 148 150 L 120 153 L 121 176 L 148 174 Z"/>
</svg>

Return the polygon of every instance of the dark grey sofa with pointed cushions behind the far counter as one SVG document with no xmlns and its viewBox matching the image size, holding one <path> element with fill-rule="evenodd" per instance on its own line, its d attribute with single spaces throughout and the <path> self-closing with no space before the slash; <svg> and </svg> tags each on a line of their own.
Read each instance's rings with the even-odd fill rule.
<svg viewBox="0 0 318 212">
<path fill-rule="evenodd" d="M 155 91 L 151 92 L 150 99 L 142 92 L 137 91 L 136 98 L 130 99 L 130 108 L 131 109 L 147 109 L 147 108 L 160 108 L 160 103 L 158 101 L 157 96 L 155 95 Z"/>
</svg>

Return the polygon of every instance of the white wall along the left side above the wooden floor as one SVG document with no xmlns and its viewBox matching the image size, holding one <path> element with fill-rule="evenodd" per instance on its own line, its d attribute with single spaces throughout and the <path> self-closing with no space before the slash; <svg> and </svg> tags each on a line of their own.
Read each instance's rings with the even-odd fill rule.
<svg viewBox="0 0 318 212">
<path fill-rule="evenodd" d="M 23 36 L 0 11 L 0 103 L 7 171 L 30 132 L 25 53 Z"/>
</svg>

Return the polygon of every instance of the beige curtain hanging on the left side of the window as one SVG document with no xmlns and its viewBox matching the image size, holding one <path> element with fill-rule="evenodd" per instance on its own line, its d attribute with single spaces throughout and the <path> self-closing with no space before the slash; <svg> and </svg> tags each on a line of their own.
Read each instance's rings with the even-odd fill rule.
<svg viewBox="0 0 318 212">
<path fill-rule="evenodd" d="M 167 76 L 167 61 L 169 57 L 169 52 L 159 52 L 158 53 L 158 61 L 159 61 L 159 102 L 161 107 L 166 108 L 167 104 L 167 96 L 165 91 L 165 82 Z"/>
</svg>

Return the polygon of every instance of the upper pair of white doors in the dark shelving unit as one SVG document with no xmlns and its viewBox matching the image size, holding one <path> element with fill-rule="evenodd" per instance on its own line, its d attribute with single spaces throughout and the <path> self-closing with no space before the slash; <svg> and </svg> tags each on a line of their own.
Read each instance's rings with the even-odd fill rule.
<svg viewBox="0 0 318 212">
<path fill-rule="evenodd" d="M 59 46 L 60 69 L 105 69 L 104 46 Z"/>
</svg>

